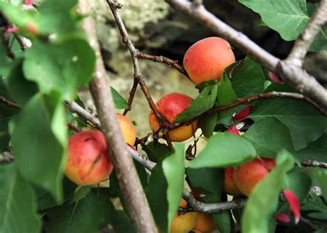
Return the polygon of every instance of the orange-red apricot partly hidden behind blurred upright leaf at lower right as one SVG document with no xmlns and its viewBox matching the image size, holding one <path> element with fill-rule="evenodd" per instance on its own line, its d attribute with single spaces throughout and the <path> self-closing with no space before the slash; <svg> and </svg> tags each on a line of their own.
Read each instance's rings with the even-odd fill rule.
<svg viewBox="0 0 327 233">
<path fill-rule="evenodd" d="M 275 159 L 253 159 L 235 169 L 232 173 L 232 179 L 243 194 L 250 196 L 255 185 L 264 179 L 275 166 Z"/>
</svg>

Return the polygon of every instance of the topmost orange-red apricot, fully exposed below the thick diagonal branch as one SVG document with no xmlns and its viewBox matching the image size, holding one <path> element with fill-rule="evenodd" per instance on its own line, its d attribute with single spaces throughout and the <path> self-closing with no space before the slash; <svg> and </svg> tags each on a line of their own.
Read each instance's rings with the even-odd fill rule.
<svg viewBox="0 0 327 233">
<path fill-rule="evenodd" d="M 225 68 L 235 62 L 230 44 L 220 37 L 208 37 L 193 44 L 184 55 L 183 65 L 195 84 L 219 80 Z"/>
</svg>

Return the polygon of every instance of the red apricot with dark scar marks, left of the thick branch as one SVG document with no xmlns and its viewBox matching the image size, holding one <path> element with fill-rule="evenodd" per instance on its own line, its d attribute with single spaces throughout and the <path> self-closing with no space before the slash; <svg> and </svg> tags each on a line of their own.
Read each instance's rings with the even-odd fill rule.
<svg viewBox="0 0 327 233">
<path fill-rule="evenodd" d="M 70 136 L 66 176 L 78 185 L 103 181 L 112 171 L 105 136 L 97 130 L 86 130 Z"/>
</svg>

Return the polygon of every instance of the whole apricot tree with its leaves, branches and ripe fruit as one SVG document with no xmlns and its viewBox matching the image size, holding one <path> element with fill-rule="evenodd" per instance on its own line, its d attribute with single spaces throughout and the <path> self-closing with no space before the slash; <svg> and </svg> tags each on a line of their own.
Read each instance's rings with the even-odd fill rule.
<svg viewBox="0 0 327 233">
<path fill-rule="evenodd" d="M 190 47 L 185 69 L 137 50 L 123 6 L 107 3 L 134 68 L 127 101 L 109 88 L 88 0 L 0 2 L 0 232 L 326 232 L 327 91 L 302 66 L 327 48 L 327 1 L 235 3 L 295 41 L 281 60 L 202 1 L 166 0 L 215 35 Z M 155 103 L 139 59 L 199 94 Z M 150 116 L 137 123 L 151 132 L 135 140 L 138 87 Z"/>
</svg>

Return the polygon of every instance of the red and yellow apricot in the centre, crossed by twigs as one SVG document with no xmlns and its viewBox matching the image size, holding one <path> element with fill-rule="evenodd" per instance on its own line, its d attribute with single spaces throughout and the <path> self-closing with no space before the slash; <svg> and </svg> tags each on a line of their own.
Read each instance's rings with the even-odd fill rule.
<svg viewBox="0 0 327 233">
<path fill-rule="evenodd" d="M 156 103 L 158 112 L 166 118 L 169 123 L 173 123 L 178 114 L 188 109 L 188 103 L 193 99 L 186 94 L 170 93 L 159 99 Z M 149 124 L 152 131 L 157 131 L 160 128 L 155 113 L 150 111 Z M 182 125 L 181 127 L 168 132 L 171 141 L 185 141 L 189 139 L 193 132 L 197 130 L 197 121 L 190 125 Z"/>
</svg>

